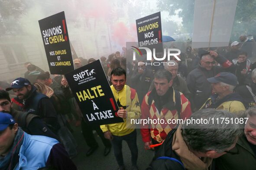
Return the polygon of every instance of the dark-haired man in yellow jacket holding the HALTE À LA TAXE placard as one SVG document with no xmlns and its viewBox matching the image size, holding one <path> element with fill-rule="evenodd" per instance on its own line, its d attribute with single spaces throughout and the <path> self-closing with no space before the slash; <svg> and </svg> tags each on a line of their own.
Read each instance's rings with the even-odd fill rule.
<svg viewBox="0 0 256 170">
<path fill-rule="evenodd" d="M 123 123 L 101 125 L 106 139 L 109 139 L 114 149 L 114 155 L 120 170 L 124 170 L 122 154 L 122 141 L 126 141 L 132 154 L 133 169 L 137 168 L 138 147 L 136 144 L 136 126 L 131 120 L 138 119 L 141 115 L 139 99 L 136 91 L 126 83 L 126 72 L 123 68 L 117 67 L 110 73 L 112 85 L 110 86 L 115 100 L 119 106 L 117 114 L 122 117 Z"/>
</svg>

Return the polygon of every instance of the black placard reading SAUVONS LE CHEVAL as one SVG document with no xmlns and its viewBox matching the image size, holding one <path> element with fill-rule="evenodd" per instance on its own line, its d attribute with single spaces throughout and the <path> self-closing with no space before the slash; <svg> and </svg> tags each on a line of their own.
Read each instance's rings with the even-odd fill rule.
<svg viewBox="0 0 256 170">
<path fill-rule="evenodd" d="M 51 74 L 74 70 L 64 11 L 38 22 Z"/>
</svg>

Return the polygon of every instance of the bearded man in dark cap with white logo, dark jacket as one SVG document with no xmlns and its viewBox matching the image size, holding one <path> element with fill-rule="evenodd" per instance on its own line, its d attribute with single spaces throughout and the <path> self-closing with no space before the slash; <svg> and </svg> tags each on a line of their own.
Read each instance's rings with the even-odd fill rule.
<svg viewBox="0 0 256 170">
<path fill-rule="evenodd" d="M 38 93 L 36 87 L 31 85 L 29 80 L 19 77 L 11 83 L 6 91 L 13 90 L 17 96 L 12 99 L 13 107 L 19 111 L 27 111 L 38 115 L 56 133 L 59 125 L 57 113 L 50 99 L 42 93 Z"/>
</svg>

